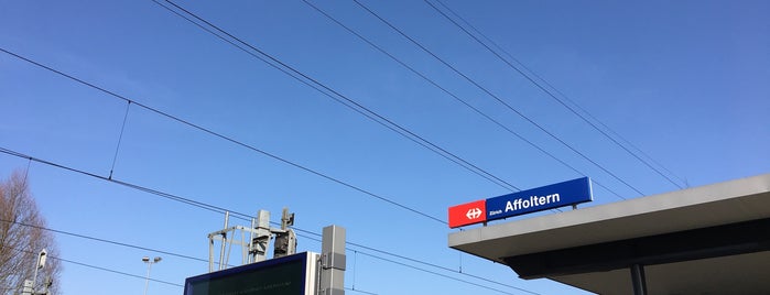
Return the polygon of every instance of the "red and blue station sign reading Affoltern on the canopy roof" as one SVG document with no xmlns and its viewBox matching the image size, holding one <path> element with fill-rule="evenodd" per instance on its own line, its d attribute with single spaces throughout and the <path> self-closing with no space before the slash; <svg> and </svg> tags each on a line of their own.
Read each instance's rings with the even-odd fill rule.
<svg viewBox="0 0 770 295">
<path fill-rule="evenodd" d="M 487 222 L 592 200 L 590 179 L 583 177 L 449 207 L 449 228 Z"/>
</svg>

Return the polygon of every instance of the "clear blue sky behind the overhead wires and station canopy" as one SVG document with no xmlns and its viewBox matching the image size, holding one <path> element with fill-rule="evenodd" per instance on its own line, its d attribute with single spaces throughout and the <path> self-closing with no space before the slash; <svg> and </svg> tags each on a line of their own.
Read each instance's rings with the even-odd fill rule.
<svg viewBox="0 0 770 295">
<path fill-rule="evenodd" d="M 330 22 L 302 1 L 178 2 L 187 10 L 506 182 L 525 189 L 587 175 L 596 206 L 679 189 L 506 66 L 421 1 L 362 1 L 593 165 L 354 2 L 315 3 L 545 155 Z M 433 1 L 432 1 L 433 2 Z M 436 3 L 436 2 L 433 2 Z M 770 172 L 770 2 L 444 1 L 579 108 L 639 148 L 680 186 Z M 440 6 L 440 4 L 437 4 Z M 440 6 L 441 7 L 441 6 Z M 445 219 L 449 206 L 510 193 L 372 122 L 152 1 L 0 0 L 0 47 L 292 163 Z M 516 64 L 516 63 L 514 63 Z M 552 90 L 554 91 L 554 90 Z M 562 96 L 558 96 L 562 99 Z M 567 102 L 571 105 L 571 102 Z M 107 177 L 127 102 L 0 53 L 0 148 Z M 587 116 L 587 114 L 584 114 Z M 603 128 L 604 130 L 604 128 Z M 616 139 L 626 142 L 621 139 Z M 636 151 L 636 148 L 628 148 Z M 646 155 L 641 155 L 647 159 Z M 30 165 L 48 227 L 206 259 L 224 216 Z M 670 171 L 670 172 L 669 172 Z M 348 241 L 538 294 L 448 249 L 446 225 L 131 105 L 112 178 L 238 212 L 284 206 L 297 228 L 347 228 Z M 614 193 L 612 193 L 614 192 Z M 545 212 L 554 214 L 554 212 Z M 522 217 L 531 218 L 531 216 Z M 510 220 L 509 220 L 510 221 Z M 234 220 L 231 225 L 246 225 Z M 61 256 L 183 284 L 207 264 L 57 234 Z M 554 237 L 558 239 L 558 237 Z M 300 238 L 300 251 L 319 251 Z M 516 288 L 350 247 L 346 286 L 377 294 L 511 294 Z M 364 253 L 438 273 L 404 267 Z M 237 252 L 234 251 L 234 260 Z M 65 294 L 141 294 L 142 278 L 64 263 Z M 150 294 L 182 288 L 150 284 Z M 350 294 L 357 294 L 348 291 Z"/>
</svg>

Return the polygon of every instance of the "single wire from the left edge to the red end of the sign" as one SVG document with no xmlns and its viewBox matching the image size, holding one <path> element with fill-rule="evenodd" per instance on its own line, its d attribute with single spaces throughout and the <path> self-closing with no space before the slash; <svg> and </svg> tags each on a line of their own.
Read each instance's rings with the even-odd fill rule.
<svg viewBox="0 0 770 295">
<path fill-rule="evenodd" d="M 107 90 L 107 89 L 105 89 L 105 88 L 102 88 L 102 87 L 99 87 L 99 86 L 96 86 L 96 85 L 90 84 L 90 83 L 88 83 L 88 81 L 85 81 L 85 80 L 83 80 L 83 79 L 79 79 L 79 78 L 77 78 L 77 77 L 75 77 L 75 76 L 68 75 L 68 74 L 63 73 L 63 72 L 61 72 L 61 70 L 57 70 L 57 69 L 55 69 L 55 68 L 52 68 L 52 67 L 48 67 L 48 66 L 43 65 L 43 64 L 41 64 L 41 63 L 34 62 L 34 61 L 32 61 L 32 59 L 30 59 L 30 58 L 26 58 L 26 57 L 24 57 L 24 56 L 21 56 L 21 55 L 19 55 L 19 54 L 15 54 L 15 53 L 13 53 L 13 52 L 10 52 L 10 51 L 8 51 L 8 50 L 6 50 L 6 48 L 0 47 L 0 51 L 4 52 L 4 53 L 7 53 L 7 54 L 9 54 L 9 55 L 11 55 L 11 56 L 14 56 L 14 57 L 17 57 L 17 58 L 19 58 L 19 59 L 22 59 L 22 61 L 24 61 L 24 62 L 28 62 L 28 63 L 30 63 L 30 64 L 33 64 L 33 65 L 35 65 L 35 66 L 37 66 L 37 67 L 47 69 L 47 70 L 53 72 L 53 73 L 56 73 L 56 74 L 58 74 L 58 75 L 61 75 L 61 76 L 63 76 L 63 77 L 66 77 L 66 78 L 68 78 L 68 79 L 72 79 L 72 80 L 74 80 L 74 81 L 77 81 L 77 83 L 79 83 L 79 84 L 83 84 L 83 85 L 86 85 L 86 86 L 91 87 L 91 88 L 94 88 L 94 89 L 97 89 L 97 90 L 99 90 L 99 91 L 101 91 L 101 92 L 105 92 L 105 94 L 107 94 L 107 95 L 109 95 L 109 96 L 112 96 L 112 97 L 115 97 L 115 98 L 118 98 L 118 99 L 121 99 L 121 100 L 124 100 L 124 101 L 131 101 L 134 106 L 141 107 L 141 108 L 143 108 L 143 109 L 145 109 L 145 110 L 149 110 L 149 111 L 151 111 L 151 112 L 154 112 L 154 113 L 156 113 L 156 114 L 160 114 L 161 117 L 165 117 L 165 118 L 167 118 L 167 119 L 171 119 L 172 121 L 176 121 L 176 122 L 178 122 L 178 123 L 182 123 L 182 124 L 184 124 L 184 125 L 191 127 L 191 128 L 193 128 L 193 129 L 195 129 L 195 130 L 202 131 L 202 132 L 207 133 L 207 134 L 209 134 L 209 135 L 213 135 L 213 136 L 215 136 L 215 138 L 218 138 L 218 139 L 228 141 L 228 142 L 230 142 L 230 143 L 234 143 L 234 144 L 239 145 L 239 146 L 241 146 L 241 148 L 245 148 L 245 149 L 247 149 L 247 150 L 250 150 L 250 151 L 260 153 L 260 154 L 262 154 L 262 155 L 265 155 L 265 156 L 268 156 L 268 157 L 271 157 L 271 159 L 273 159 L 273 160 L 276 160 L 276 161 L 279 161 L 279 162 L 282 162 L 282 163 L 284 163 L 284 164 L 288 164 L 288 165 L 290 165 L 290 166 L 300 168 L 300 170 L 302 170 L 302 171 L 305 171 L 305 172 L 311 173 L 311 174 L 313 174 L 313 175 L 319 176 L 319 177 L 325 178 L 325 179 L 327 179 L 327 181 L 330 181 L 330 182 L 333 182 L 333 183 L 336 183 L 336 184 L 346 186 L 346 187 L 348 187 L 348 188 L 351 188 L 351 189 L 354 189 L 354 190 L 357 190 L 357 192 L 362 193 L 362 194 L 365 194 L 365 195 L 368 195 L 368 196 L 370 196 L 370 197 L 380 199 L 380 200 L 386 201 L 386 203 L 388 203 L 388 204 L 391 204 L 391 205 L 393 205 L 393 206 L 395 206 L 395 207 L 400 207 L 400 208 L 402 208 L 402 209 L 412 211 L 413 214 L 416 214 L 416 215 L 420 215 L 420 216 L 422 216 L 422 217 L 432 219 L 432 220 L 437 221 L 437 222 L 440 222 L 440 223 L 447 225 L 447 222 L 446 222 L 445 220 L 441 219 L 441 218 L 437 218 L 437 217 L 427 215 L 427 214 L 422 212 L 422 211 L 420 211 L 420 210 L 417 210 L 417 209 L 411 208 L 411 207 L 409 207 L 409 206 L 406 206 L 406 205 L 403 205 L 403 204 L 401 204 L 401 203 L 398 203 L 398 201 L 394 201 L 394 200 L 392 200 L 392 199 L 390 199 L 390 198 L 387 198 L 387 197 L 384 197 L 384 196 L 375 194 L 375 193 L 369 192 L 369 190 L 367 190 L 367 189 L 364 189 L 364 188 L 361 188 L 361 187 L 358 187 L 358 186 L 355 186 L 355 185 L 349 184 L 349 183 L 347 183 L 347 182 L 344 182 L 344 181 L 341 181 L 341 179 L 339 179 L 339 178 L 336 178 L 336 177 L 326 175 L 326 174 L 324 174 L 324 173 L 322 173 L 322 172 L 318 172 L 318 171 L 316 171 L 316 170 L 313 170 L 313 168 L 310 168 L 310 167 L 307 167 L 307 166 L 304 166 L 304 165 L 294 163 L 294 162 L 289 161 L 289 160 L 286 160 L 286 159 L 284 159 L 284 157 L 281 157 L 281 156 L 279 156 L 279 155 L 275 155 L 275 154 L 269 153 L 269 152 L 267 152 L 267 151 L 264 151 L 264 150 L 258 149 L 258 148 L 256 148 L 254 145 L 245 143 L 245 142 L 242 142 L 242 141 L 236 140 L 236 139 L 230 138 L 230 136 L 227 136 L 227 135 L 224 135 L 224 134 L 221 134 L 221 133 L 218 133 L 218 132 L 213 131 L 213 130 L 210 130 L 210 129 L 207 129 L 207 128 L 205 128 L 205 127 L 195 124 L 195 123 L 193 123 L 193 122 L 191 122 L 191 121 L 181 119 L 181 118 L 178 118 L 178 117 L 176 117 L 176 116 L 173 116 L 173 114 L 171 114 L 171 113 L 169 113 L 169 112 L 164 112 L 164 111 L 161 111 L 161 110 L 159 110 L 159 109 L 155 109 L 155 108 L 152 108 L 152 107 L 150 107 L 150 106 L 147 106 L 147 105 L 144 105 L 144 103 L 138 102 L 138 101 L 132 100 L 132 99 L 130 99 L 130 98 L 128 98 L 128 97 L 126 97 L 126 96 L 121 96 L 121 95 L 116 94 L 116 92 L 113 92 L 113 91 Z M 96 176 L 96 175 L 95 175 L 95 176 Z M 98 177 L 101 177 L 101 176 L 98 176 Z M 126 185 L 126 184 L 124 184 L 124 185 Z M 129 186 L 129 185 L 126 185 L 126 186 Z M 224 212 L 224 211 L 223 211 L 223 212 Z"/>
</svg>

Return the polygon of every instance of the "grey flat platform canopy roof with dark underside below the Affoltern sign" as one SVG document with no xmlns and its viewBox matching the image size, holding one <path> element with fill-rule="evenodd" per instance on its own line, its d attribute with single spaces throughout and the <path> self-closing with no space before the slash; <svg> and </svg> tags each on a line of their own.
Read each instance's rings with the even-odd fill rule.
<svg viewBox="0 0 770 295">
<path fill-rule="evenodd" d="M 770 174 L 468 229 L 448 243 L 598 294 L 633 294 L 639 270 L 641 294 L 770 294 Z"/>
</svg>

